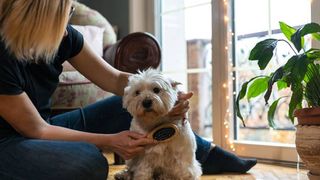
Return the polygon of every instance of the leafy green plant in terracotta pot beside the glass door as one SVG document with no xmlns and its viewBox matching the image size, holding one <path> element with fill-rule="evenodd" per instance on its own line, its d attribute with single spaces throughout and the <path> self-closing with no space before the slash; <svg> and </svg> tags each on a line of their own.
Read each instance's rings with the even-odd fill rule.
<svg viewBox="0 0 320 180">
<path fill-rule="evenodd" d="M 290 88 L 290 96 L 279 97 L 270 102 L 268 123 L 275 128 L 274 115 L 277 105 L 282 98 L 290 98 L 288 117 L 292 123 L 294 117 L 298 119 L 298 154 L 310 170 L 309 178 L 320 179 L 320 49 L 308 48 L 304 38 L 311 35 L 319 41 L 320 25 L 309 23 L 295 29 L 280 22 L 280 29 L 287 39 L 265 39 L 257 43 L 250 52 L 249 60 L 257 61 L 260 70 L 264 70 L 274 57 L 279 43 L 286 43 L 294 55 L 270 74 L 255 76 L 242 85 L 236 99 L 236 114 L 244 123 L 239 106 L 244 97 L 250 100 L 264 95 L 266 105 L 269 105 L 272 93 Z"/>
</svg>

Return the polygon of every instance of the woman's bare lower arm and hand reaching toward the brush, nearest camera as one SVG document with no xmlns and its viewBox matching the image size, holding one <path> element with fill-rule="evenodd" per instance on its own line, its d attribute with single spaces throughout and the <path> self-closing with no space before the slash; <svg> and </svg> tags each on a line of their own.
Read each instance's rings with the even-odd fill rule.
<svg viewBox="0 0 320 180">
<path fill-rule="evenodd" d="M 130 131 L 118 134 L 95 134 L 50 125 L 41 118 L 25 93 L 0 95 L 0 116 L 24 137 L 84 141 L 95 144 L 100 149 L 113 150 L 124 159 L 130 159 L 141 153 L 145 145 L 155 143 L 145 135 Z"/>
</svg>

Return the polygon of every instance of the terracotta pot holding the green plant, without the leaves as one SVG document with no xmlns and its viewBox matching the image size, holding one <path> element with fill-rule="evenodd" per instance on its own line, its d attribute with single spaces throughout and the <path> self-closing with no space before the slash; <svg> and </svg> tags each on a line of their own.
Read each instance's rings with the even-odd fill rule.
<svg viewBox="0 0 320 180">
<path fill-rule="evenodd" d="M 298 118 L 296 148 L 309 170 L 310 180 L 320 179 L 320 108 L 304 108 L 294 112 Z"/>
</svg>

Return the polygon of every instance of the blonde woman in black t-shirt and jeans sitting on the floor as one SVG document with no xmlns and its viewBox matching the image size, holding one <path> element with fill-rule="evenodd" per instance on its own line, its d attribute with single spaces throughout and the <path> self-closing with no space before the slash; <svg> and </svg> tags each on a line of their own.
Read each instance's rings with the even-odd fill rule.
<svg viewBox="0 0 320 180">
<path fill-rule="evenodd" d="M 0 1 L 0 179 L 106 179 L 101 151 L 130 159 L 157 143 L 128 131 L 131 117 L 120 97 L 50 118 L 65 60 L 119 96 L 130 75 L 88 48 L 67 25 L 71 13 L 72 0 Z M 180 94 L 168 116 L 184 116 L 191 96 Z M 196 139 L 205 173 L 244 173 L 256 163 Z"/>
</svg>

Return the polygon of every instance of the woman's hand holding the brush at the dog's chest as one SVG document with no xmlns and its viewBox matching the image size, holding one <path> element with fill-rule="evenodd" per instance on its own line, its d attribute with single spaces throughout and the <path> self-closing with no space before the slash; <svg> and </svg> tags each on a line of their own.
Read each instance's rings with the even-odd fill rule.
<svg viewBox="0 0 320 180">
<path fill-rule="evenodd" d="M 157 143 L 157 141 L 133 131 L 122 131 L 111 136 L 111 150 L 125 160 L 143 153 L 147 146 Z"/>
</svg>

